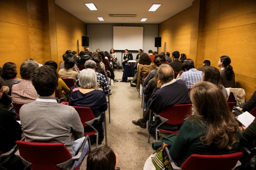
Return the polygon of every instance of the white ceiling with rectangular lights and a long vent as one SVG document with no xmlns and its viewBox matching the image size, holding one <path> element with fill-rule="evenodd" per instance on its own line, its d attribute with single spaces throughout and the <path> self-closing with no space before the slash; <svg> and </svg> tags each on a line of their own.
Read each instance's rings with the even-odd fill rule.
<svg viewBox="0 0 256 170">
<path fill-rule="evenodd" d="M 161 23 L 192 6 L 194 0 L 55 0 L 55 4 L 76 16 L 84 23 Z M 90 11 L 84 3 L 91 3 L 97 11 Z M 162 4 L 149 12 L 152 4 Z M 136 14 L 136 17 L 110 17 L 108 14 Z M 99 21 L 103 17 L 105 21 Z M 140 22 L 142 18 L 148 18 Z"/>
</svg>

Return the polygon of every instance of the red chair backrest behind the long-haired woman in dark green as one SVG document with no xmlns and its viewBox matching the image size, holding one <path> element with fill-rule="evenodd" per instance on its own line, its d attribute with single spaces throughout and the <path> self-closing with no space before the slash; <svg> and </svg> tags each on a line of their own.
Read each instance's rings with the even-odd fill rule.
<svg viewBox="0 0 256 170">
<path fill-rule="evenodd" d="M 232 170 L 242 152 L 222 155 L 192 154 L 181 165 L 182 170 Z"/>
</svg>

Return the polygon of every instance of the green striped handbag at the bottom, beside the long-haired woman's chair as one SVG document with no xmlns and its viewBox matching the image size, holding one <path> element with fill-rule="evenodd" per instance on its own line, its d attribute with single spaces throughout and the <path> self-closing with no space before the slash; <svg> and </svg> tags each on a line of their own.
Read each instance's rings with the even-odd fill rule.
<svg viewBox="0 0 256 170">
<path fill-rule="evenodd" d="M 168 156 L 164 150 L 167 144 L 162 145 L 158 150 L 156 150 L 155 156 L 152 158 L 152 162 L 156 170 L 172 170 L 171 162 L 168 160 Z"/>
</svg>

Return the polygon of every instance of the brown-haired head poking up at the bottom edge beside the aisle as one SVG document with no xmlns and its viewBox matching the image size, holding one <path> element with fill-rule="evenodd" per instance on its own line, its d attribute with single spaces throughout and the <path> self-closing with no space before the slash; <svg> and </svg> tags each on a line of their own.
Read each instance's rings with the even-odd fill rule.
<svg viewBox="0 0 256 170">
<path fill-rule="evenodd" d="M 120 170 L 118 154 L 108 146 L 96 148 L 88 155 L 86 170 Z"/>
</svg>

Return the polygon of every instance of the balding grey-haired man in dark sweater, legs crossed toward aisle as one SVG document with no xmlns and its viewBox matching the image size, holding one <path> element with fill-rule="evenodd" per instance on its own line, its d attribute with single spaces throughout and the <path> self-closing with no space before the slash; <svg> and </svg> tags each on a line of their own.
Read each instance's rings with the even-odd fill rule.
<svg viewBox="0 0 256 170">
<path fill-rule="evenodd" d="M 132 121 L 134 125 L 146 128 L 146 122 L 149 119 L 150 109 L 159 114 L 164 107 L 177 104 L 189 104 L 188 89 L 183 80 L 174 79 L 174 72 L 171 66 L 162 64 L 158 68 L 159 81 L 150 99 L 147 102 L 147 108 L 143 113 L 143 118 L 138 121 Z M 150 134 L 155 138 L 155 129 L 160 124 L 160 119 L 156 119 L 154 126 L 150 127 Z M 161 129 L 179 129 L 178 126 L 161 126 Z"/>
</svg>

